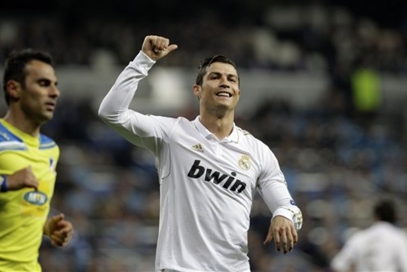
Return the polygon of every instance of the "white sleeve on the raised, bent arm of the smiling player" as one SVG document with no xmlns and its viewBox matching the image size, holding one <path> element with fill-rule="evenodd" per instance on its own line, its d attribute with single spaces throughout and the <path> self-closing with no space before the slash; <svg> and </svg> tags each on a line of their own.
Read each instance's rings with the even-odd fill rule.
<svg viewBox="0 0 407 272">
<path fill-rule="evenodd" d="M 120 73 L 99 107 L 100 118 L 131 143 L 158 154 L 160 141 L 168 137 L 177 119 L 138 113 L 128 109 L 140 80 L 155 61 L 143 52 Z"/>
</svg>

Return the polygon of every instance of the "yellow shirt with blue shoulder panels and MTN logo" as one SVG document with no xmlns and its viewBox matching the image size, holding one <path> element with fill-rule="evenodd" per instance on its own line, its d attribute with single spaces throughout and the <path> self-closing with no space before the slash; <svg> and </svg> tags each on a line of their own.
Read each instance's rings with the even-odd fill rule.
<svg viewBox="0 0 407 272">
<path fill-rule="evenodd" d="M 38 249 L 50 211 L 59 147 L 49 137 L 33 137 L 0 119 L 0 175 L 31 165 L 38 191 L 0 192 L 0 272 L 41 271 Z"/>
</svg>

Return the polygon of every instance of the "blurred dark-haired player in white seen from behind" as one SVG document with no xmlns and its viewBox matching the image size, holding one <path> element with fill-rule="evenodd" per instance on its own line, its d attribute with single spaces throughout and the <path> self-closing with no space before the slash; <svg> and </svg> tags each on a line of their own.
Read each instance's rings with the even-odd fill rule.
<svg viewBox="0 0 407 272">
<path fill-rule="evenodd" d="M 396 207 L 382 199 L 372 226 L 354 233 L 331 260 L 333 271 L 407 271 L 407 235 L 396 227 Z"/>
</svg>

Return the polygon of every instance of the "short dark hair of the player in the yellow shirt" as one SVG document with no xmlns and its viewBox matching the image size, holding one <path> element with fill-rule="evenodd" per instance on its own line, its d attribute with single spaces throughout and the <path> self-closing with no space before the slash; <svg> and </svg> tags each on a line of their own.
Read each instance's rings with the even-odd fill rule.
<svg viewBox="0 0 407 272">
<path fill-rule="evenodd" d="M 53 66 L 53 60 L 48 52 L 35 50 L 31 48 L 13 50 L 7 57 L 4 64 L 3 74 L 3 90 L 4 98 L 7 105 L 10 103 L 10 95 L 6 90 L 6 85 L 9 80 L 19 82 L 23 88 L 25 87 L 25 66 L 32 60 L 38 60 Z"/>
</svg>

